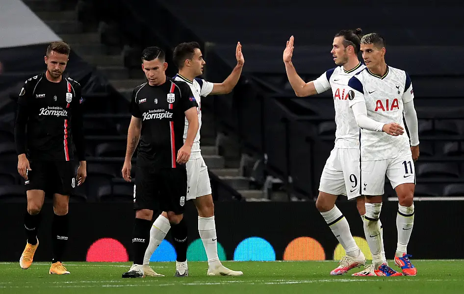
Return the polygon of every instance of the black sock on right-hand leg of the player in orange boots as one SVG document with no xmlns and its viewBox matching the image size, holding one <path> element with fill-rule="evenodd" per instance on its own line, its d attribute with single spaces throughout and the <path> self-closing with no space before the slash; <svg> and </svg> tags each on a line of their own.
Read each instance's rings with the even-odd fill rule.
<svg viewBox="0 0 464 294">
<path fill-rule="evenodd" d="M 68 215 L 53 215 L 52 221 L 52 263 L 61 262 L 68 243 Z"/>
</svg>

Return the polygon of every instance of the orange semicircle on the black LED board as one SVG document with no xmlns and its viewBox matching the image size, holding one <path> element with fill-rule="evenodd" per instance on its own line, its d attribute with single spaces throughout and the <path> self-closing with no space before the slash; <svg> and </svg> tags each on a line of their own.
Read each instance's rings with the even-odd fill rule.
<svg viewBox="0 0 464 294">
<path fill-rule="evenodd" d="M 284 260 L 325 260 L 324 247 L 311 237 L 299 237 L 290 242 L 284 251 Z"/>
</svg>

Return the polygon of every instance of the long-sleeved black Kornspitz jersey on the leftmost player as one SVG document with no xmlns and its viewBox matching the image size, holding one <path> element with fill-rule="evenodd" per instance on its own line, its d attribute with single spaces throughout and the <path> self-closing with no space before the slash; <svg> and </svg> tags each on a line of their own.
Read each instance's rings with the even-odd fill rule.
<svg viewBox="0 0 464 294">
<path fill-rule="evenodd" d="M 79 83 L 62 76 L 51 82 L 45 73 L 26 80 L 18 97 L 15 141 L 18 154 L 31 160 L 85 160 Z M 25 134 L 25 131 L 27 134 Z"/>
</svg>

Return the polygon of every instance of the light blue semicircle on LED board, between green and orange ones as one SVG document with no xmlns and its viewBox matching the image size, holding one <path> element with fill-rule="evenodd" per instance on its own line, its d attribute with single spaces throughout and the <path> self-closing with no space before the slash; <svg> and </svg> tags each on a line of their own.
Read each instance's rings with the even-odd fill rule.
<svg viewBox="0 0 464 294">
<path fill-rule="evenodd" d="M 250 237 L 237 245 L 233 252 L 235 261 L 274 261 L 276 252 L 272 245 L 259 237 Z"/>
</svg>

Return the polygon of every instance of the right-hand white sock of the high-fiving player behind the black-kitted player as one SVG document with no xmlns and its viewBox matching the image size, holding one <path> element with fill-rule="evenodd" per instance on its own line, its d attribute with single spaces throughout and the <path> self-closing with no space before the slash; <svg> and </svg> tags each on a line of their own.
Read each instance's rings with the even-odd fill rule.
<svg viewBox="0 0 464 294">
<path fill-rule="evenodd" d="M 217 255 L 217 236 L 214 216 L 210 218 L 198 217 L 198 233 L 200 233 L 203 246 L 205 246 L 208 266 L 213 269 L 219 267 L 221 262 Z"/>
</svg>

